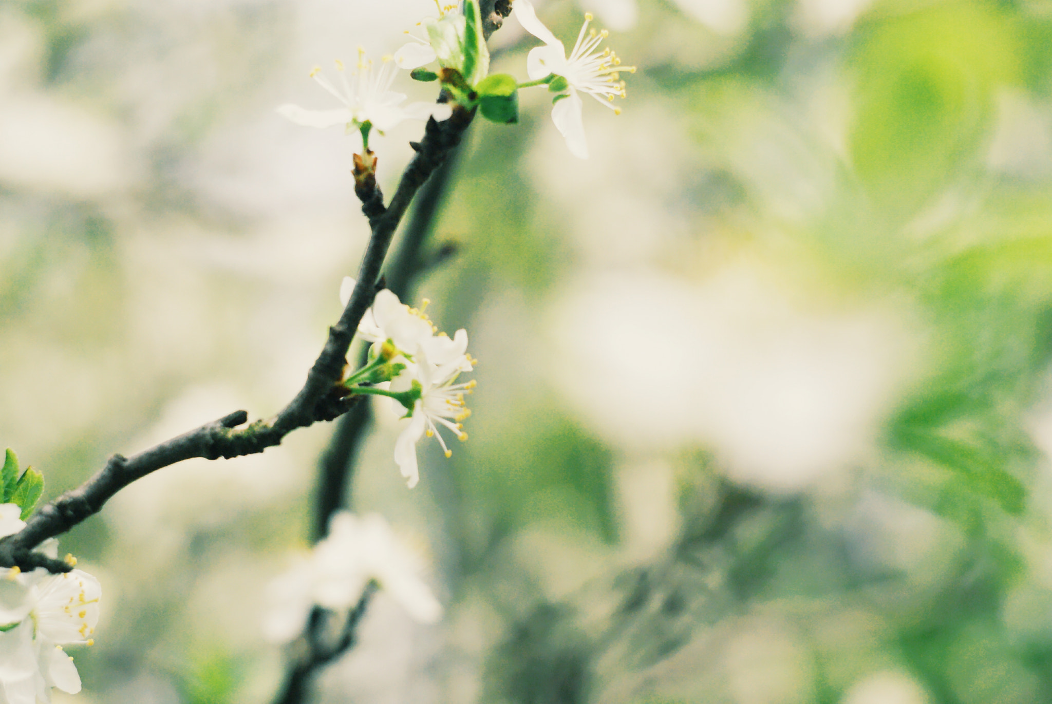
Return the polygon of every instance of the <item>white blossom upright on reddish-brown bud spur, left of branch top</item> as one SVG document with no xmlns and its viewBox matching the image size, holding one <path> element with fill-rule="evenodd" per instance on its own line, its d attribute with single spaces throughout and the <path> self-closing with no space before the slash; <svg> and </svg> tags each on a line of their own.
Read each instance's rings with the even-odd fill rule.
<svg viewBox="0 0 1052 704">
<path fill-rule="evenodd" d="M 310 77 L 339 100 L 342 107 L 311 110 L 286 103 L 278 107 L 278 112 L 292 122 L 308 127 L 323 128 L 344 124 L 348 130 L 368 126 L 376 127 L 381 133 L 403 120 L 426 120 L 429 117 L 445 120 L 452 114 L 449 105 L 440 103 L 402 105 L 405 95 L 390 89 L 399 68 L 389 58 L 381 61 L 377 68 L 371 60 L 365 61 L 360 52 L 357 71 L 351 73 L 349 80 L 343 62 L 337 61 L 336 65 L 340 76 L 339 87 L 322 75 L 320 66 L 310 72 Z M 368 132 L 367 127 L 365 132 Z"/>
</svg>

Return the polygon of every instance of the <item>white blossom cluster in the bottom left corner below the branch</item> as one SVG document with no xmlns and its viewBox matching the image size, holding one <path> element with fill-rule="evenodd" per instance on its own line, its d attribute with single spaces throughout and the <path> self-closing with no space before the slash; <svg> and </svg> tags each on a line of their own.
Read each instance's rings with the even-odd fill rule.
<svg viewBox="0 0 1052 704">
<path fill-rule="evenodd" d="M 0 537 L 25 527 L 21 512 L 16 504 L 0 505 Z M 58 541 L 38 549 L 57 558 Z M 76 563 L 73 556 L 66 562 Z M 62 646 L 92 645 L 101 596 L 99 581 L 80 569 L 61 575 L 0 569 L 0 701 L 50 702 L 52 687 L 80 691 L 77 667 Z"/>
</svg>

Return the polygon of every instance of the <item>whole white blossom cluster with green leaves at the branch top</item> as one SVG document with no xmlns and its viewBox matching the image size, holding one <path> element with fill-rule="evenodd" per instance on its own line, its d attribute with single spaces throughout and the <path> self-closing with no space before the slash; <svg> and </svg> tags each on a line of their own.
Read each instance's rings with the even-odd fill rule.
<svg viewBox="0 0 1052 704">
<path fill-rule="evenodd" d="M 433 117 L 445 120 L 452 114 L 451 104 L 468 109 L 478 106 L 483 117 L 494 122 L 518 122 L 518 90 L 544 85 L 553 94 L 551 117 L 555 127 L 566 139 L 570 152 L 586 159 L 588 144 L 580 94 L 590 95 L 614 113 L 620 113 L 613 101 L 626 95 L 621 73 L 635 72 L 634 66 L 622 66 L 621 60 L 609 48 L 600 48 L 607 37 L 606 31 L 589 28 L 592 16 L 586 14 L 578 40 L 567 54 L 563 42 L 538 19 L 529 0 L 515 0 L 512 5 L 514 16 L 527 32 L 545 44 L 530 51 L 526 61 L 530 80 L 519 83 L 507 74 L 489 74 L 489 52 L 483 40 L 478 1 L 466 0 L 463 7 L 461 12 L 453 6 L 440 5 L 438 18 L 426 18 L 419 23 L 424 36 L 410 34 L 412 41 L 402 46 L 393 57 L 385 57 L 379 72 L 373 71 L 371 61 L 364 60 L 362 49 L 359 49 L 358 71 L 350 81 L 346 79 L 343 64 L 337 61 L 341 87 L 330 83 L 321 75 L 321 68 L 316 67 L 310 73 L 311 77 L 343 107 L 308 110 L 286 104 L 278 112 L 298 124 L 310 127 L 344 124 L 348 133 L 361 133 L 363 154 L 369 154 L 371 128 L 382 133 L 406 119 L 426 120 Z M 434 72 L 424 68 L 436 63 Z M 418 80 L 440 80 L 448 102 L 403 106 L 405 96 L 390 90 L 399 68 L 412 69 L 412 77 Z"/>
</svg>

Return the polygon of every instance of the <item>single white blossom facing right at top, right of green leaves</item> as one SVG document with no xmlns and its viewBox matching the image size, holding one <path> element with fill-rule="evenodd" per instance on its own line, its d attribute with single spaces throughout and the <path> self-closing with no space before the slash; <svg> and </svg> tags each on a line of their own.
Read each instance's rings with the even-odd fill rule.
<svg viewBox="0 0 1052 704">
<path fill-rule="evenodd" d="M 621 59 L 609 48 L 599 51 L 607 32 L 588 29 L 591 14 L 585 15 L 578 41 L 567 56 L 563 42 L 538 19 L 529 0 L 515 0 L 512 7 L 523 27 L 545 43 L 544 46 L 530 49 L 526 57 L 526 73 L 532 80 L 548 75 L 566 79 L 565 92 L 555 96 L 551 119 L 566 139 L 570 153 L 587 159 L 588 142 L 585 139 L 581 117 L 582 101 L 578 93 L 586 93 L 614 113 L 621 113 L 621 108 L 613 105 L 615 97 L 625 97 L 625 82 L 621 80 L 620 72 L 635 73 L 635 66 L 622 66 Z"/>
</svg>

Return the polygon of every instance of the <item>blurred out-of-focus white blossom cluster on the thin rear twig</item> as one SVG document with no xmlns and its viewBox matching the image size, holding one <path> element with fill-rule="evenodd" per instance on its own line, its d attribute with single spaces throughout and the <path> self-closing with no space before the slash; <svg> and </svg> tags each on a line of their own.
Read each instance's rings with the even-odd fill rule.
<svg viewBox="0 0 1052 704">
<path fill-rule="evenodd" d="M 339 511 L 309 557 L 270 583 L 264 633 L 287 643 L 303 632 L 315 606 L 346 616 L 375 582 L 417 621 L 434 623 L 442 605 L 420 575 L 423 560 L 379 514 Z"/>
</svg>

